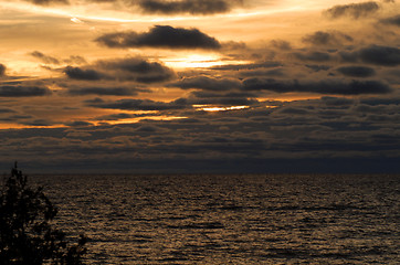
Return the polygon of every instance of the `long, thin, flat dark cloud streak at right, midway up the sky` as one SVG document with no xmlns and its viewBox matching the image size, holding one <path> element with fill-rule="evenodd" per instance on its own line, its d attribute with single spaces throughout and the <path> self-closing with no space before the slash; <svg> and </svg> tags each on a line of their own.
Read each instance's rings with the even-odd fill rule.
<svg viewBox="0 0 400 265">
<path fill-rule="evenodd" d="M 334 95 L 386 94 L 392 89 L 379 81 L 326 80 L 319 82 L 281 81 L 273 78 L 249 78 L 243 82 L 245 91 L 273 91 L 277 93 L 308 92 Z"/>
</svg>

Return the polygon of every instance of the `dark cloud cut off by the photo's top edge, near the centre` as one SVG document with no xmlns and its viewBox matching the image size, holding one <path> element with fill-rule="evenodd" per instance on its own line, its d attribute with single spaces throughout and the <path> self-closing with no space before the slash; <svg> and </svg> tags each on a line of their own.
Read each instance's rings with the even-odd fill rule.
<svg viewBox="0 0 400 265">
<path fill-rule="evenodd" d="M 161 0 L 141 0 L 140 8 L 146 13 L 190 13 L 190 14 L 214 14 L 224 13 L 231 10 L 233 4 L 240 1 L 235 0 L 180 0 L 180 1 L 161 1 Z"/>
</svg>

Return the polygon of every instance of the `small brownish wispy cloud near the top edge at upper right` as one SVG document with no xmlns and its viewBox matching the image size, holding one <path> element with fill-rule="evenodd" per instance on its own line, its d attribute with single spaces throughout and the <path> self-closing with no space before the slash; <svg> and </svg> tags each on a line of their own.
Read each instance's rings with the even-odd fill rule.
<svg viewBox="0 0 400 265">
<path fill-rule="evenodd" d="M 325 14 L 331 19 L 337 19 L 340 17 L 351 17 L 354 19 L 359 19 L 362 17 L 368 17 L 379 10 L 379 4 L 369 1 L 361 3 L 349 3 L 349 4 L 339 4 L 325 11 Z"/>
</svg>

